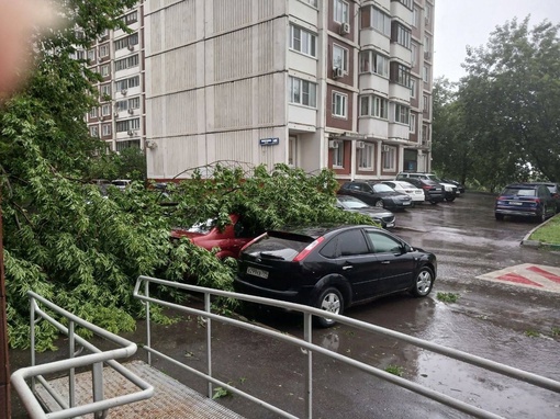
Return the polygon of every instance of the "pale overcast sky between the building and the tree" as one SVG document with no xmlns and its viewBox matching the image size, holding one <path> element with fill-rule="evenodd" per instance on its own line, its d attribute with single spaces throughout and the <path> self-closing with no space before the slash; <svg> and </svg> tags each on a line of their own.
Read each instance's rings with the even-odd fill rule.
<svg viewBox="0 0 560 419">
<path fill-rule="evenodd" d="M 436 0 L 434 78 L 458 81 L 466 47 L 481 46 L 496 26 L 530 14 L 529 26 L 545 19 L 560 23 L 560 0 Z"/>
</svg>

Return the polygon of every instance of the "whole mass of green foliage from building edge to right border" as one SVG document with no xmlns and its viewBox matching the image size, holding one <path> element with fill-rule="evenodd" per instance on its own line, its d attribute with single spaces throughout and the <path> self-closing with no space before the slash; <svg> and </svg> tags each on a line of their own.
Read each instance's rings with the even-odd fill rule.
<svg viewBox="0 0 560 419">
<path fill-rule="evenodd" d="M 434 89 L 434 168 L 496 191 L 560 179 L 560 26 L 528 18 L 468 48 L 468 75 Z"/>
</svg>

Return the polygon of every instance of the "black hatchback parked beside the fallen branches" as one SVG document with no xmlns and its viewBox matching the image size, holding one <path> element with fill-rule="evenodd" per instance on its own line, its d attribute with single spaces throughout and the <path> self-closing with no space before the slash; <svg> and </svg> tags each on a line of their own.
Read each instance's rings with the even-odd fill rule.
<svg viewBox="0 0 560 419">
<path fill-rule="evenodd" d="M 383 295 L 428 295 L 436 257 L 372 226 L 306 227 L 267 231 L 243 249 L 237 291 L 306 304 L 328 313 Z M 323 327 L 328 317 L 316 319 Z"/>
</svg>

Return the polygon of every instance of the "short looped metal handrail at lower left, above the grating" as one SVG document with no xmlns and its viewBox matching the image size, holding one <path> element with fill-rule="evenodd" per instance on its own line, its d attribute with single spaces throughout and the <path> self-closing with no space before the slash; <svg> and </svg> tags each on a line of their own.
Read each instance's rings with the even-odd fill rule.
<svg viewBox="0 0 560 419">
<path fill-rule="evenodd" d="M 22 367 L 15 371 L 11 375 L 11 383 L 14 389 L 19 393 L 20 398 L 25 406 L 27 414 L 33 419 L 42 419 L 42 418 L 74 418 L 81 415 L 87 414 L 96 414 L 96 417 L 104 417 L 107 410 L 116 406 L 126 405 L 130 403 L 147 399 L 154 395 L 154 387 L 139 378 L 137 375 L 133 374 L 131 371 L 119 364 L 115 360 L 125 359 L 132 356 L 136 350 L 137 346 L 134 342 L 131 342 L 127 339 L 121 338 L 114 333 L 111 333 L 96 325 L 92 325 L 89 321 L 81 319 L 78 316 L 72 315 L 71 313 L 65 310 L 61 307 L 58 307 L 54 303 L 48 299 L 42 297 L 41 295 L 29 292 L 30 305 L 31 305 L 31 361 L 32 365 L 27 367 Z M 45 310 L 43 310 L 38 303 L 43 304 L 49 310 L 57 313 L 59 316 L 65 317 L 69 321 L 69 326 L 66 327 L 60 324 L 58 320 L 54 319 L 51 315 L 48 315 Z M 38 317 L 37 317 L 38 316 Z M 37 318 L 36 318 L 37 317 Z M 35 325 L 38 320 L 44 319 L 51 324 L 53 324 L 60 332 L 68 336 L 70 353 L 69 359 L 59 360 L 54 362 L 48 362 L 44 364 L 36 365 L 35 364 Z M 79 325 L 86 329 L 89 329 L 94 335 L 113 342 L 114 344 L 121 347 L 117 349 L 101 351 L 93 344 L 89 343 L 86 339 L 79 337 L 74 332 L 74 326 Z M 74 358 L 75 355 L 75 344 L 88 349 L 93 352 L 91 354 L 81 355 L 78 358 Z M 127 378 L 130 382 L 135 384 L 139 392 L 135 392 L 132 394 L 108 398 L 104 400 L 96 400 L 93 403 L 85 404 L 81 406 L 74 406 L 74 372 L 77 367 L 87 367 L 91 366 L 93 371 L 93 392 L 100 390 L 100 388 L 96 388 L 96 382 L 102 382 L 102 365 L 107 364 L 117 371 L 122 376 Z M 46 380 L 43 377 L 44 374 L 52 373 L 60 373 L 69 371 L 69 401 L 66 403 L 61 395 L 56 394 L 49 386 L 47 385 Z M 31 380 L 31 384 L 27 384 L 27 381 Z M 45 389 L 51 394 L 53 399 L 60 406 L 61 410 L 54 412 L 45 412 L 41 403 L 38 401 L 35 394 L 35 381 L 38 381 Z M 102 384 L 99 384 L 102 385 Z M 102 394 L 102 390 L 100 392 Z M 98 397 L 99 398 L 99 397 Z"/>
</svg>

